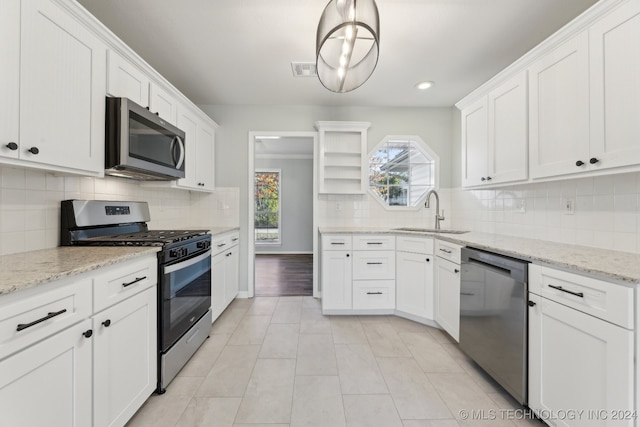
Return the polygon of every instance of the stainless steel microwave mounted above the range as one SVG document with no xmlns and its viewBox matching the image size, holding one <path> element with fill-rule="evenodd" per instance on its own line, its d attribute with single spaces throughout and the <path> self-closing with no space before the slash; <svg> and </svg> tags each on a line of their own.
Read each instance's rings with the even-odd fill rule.
<svg viewBox="0 0 640 427">
<path fill-rule="evenodd" d="M 184 132 L 130 99 L 107 97 L 105 137 L 106 175 L 184 178 Z"/>
</svg>

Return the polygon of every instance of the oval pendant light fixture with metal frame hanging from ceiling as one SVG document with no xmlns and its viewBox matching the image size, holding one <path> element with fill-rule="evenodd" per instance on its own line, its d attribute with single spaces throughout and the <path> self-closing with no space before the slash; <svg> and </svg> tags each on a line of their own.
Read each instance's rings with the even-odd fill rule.
<svg viewBox="0 0 640 427">
<path fill-rule="evenodd" d="M 374 0 L 331 0 L 316 33 L 320 83 L 333 92 L 360 87 L 378 63 L 380 19 Z"/>
</svg>

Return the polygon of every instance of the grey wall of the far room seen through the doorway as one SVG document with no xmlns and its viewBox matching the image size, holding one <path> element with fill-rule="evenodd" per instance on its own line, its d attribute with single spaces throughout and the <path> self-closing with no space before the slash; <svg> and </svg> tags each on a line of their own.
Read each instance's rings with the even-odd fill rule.
<svg viewBox="0 0 640 427">
<path fill-rule="evenodd" d="M 313 159 L 256 159 L 255 169 L 280 169 L 280 244 L 256 253 L 313 252 Z"/>
</svg>

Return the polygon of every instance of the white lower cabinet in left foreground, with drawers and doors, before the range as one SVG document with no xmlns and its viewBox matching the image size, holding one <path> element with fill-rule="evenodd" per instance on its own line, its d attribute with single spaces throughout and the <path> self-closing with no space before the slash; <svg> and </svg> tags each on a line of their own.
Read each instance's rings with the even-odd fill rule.
<svg viewBox="0 0 640 427">
<path fill-rule="evenodd" d="M 143 288 L 120 281 L 146 264 Z M 155 254 L 0 297 L 0 424 L 123 426 L 157 374 Z M 118 301 L 93 290 L 120 281 Z M 143 280 L 140 280 L 143 282 Z"/>
</svg>

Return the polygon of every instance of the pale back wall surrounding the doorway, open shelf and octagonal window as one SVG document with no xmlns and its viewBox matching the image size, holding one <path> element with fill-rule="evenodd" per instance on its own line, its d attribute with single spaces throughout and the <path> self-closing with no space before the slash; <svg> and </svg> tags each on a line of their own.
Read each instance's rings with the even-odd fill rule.
<svg viewBox="0 0 640 427">
<path fill-rule="evenodd" d="M 216 185 L 240 188 L 240 291 L 247 290 L 248 139 L 251 131 L 313 132 L 320 120 L 370 122 L 369 150 L 386 135 L 418 135 L 440 156 L 441 187 L 450 186 L 453 108 L 200 105 L 220 128 L 216 132 Z M 457 111 L 457 110 L 456 110 Z M 336 202 L 340 210 L 336 210 Z M 446 206 L 447 201 L 443 200 Z M 433 212 L 390 213 L 369 195 L 322 196 L 318 226 L 432 224 Z M 447 208 L 445 208 L 447 209 Z M 447 226 L 447 222 L 444 223 Z"/>
</svg>

